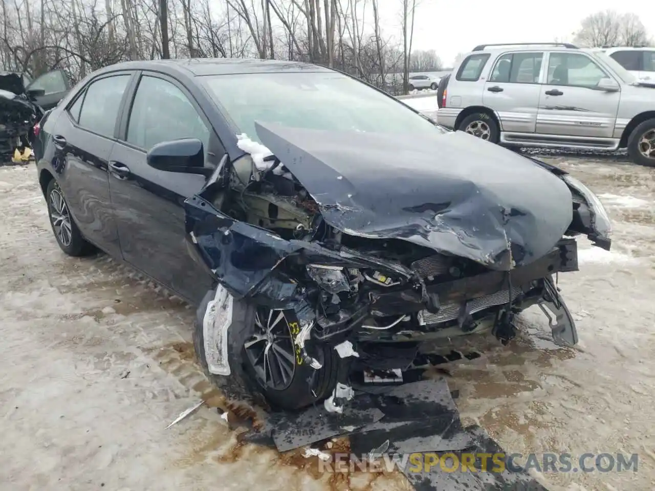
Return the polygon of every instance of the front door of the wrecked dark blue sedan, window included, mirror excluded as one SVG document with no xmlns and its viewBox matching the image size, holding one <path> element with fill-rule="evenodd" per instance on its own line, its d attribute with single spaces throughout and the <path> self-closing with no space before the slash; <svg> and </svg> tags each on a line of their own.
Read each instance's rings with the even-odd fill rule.
<svg viewBox="0 0 655 491">
<path fill-rule="evenodd" d="M 109 159 L 123 259 L 192 302 L 202 299 L 212 278 L 189 254 L 183 204 L 206 179 L 152 168 L 146 153 L 162 141 L 193 137 L 204 143 L 207 165 L 215 166 L 225 152 L 211 128 L 179 82 L 144 72 L 126 131 Z"/>
</svg>

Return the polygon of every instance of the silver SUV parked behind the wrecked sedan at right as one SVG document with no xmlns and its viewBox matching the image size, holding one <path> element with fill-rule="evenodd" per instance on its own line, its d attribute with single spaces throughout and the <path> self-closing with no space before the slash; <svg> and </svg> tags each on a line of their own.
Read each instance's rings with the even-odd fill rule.
<svg viewBox="0 0 655 491">
<path fill-rule="evenodd" d="M 439 92 L 443 126 L 509 147 L 627 148 L 655 166 L 655 83 L 600 49 L 476 46 Z"/>
</svg>

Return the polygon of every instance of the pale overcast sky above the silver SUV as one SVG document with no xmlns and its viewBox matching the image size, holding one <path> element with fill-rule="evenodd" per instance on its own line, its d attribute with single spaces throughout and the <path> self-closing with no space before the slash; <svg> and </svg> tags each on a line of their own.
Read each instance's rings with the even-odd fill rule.
<svg viewBox="0 0 655 491">
<path fill-rule="evenodd" d="M 400 5 L 400 0 L 396 1 Z M 436 50 L 447 66 L 453 64 L 459 52 L 483 43 L 550 42 L 555 37 L 572 41 L 572 32 L 578 29 L 580 21 L 599 10 L 633 12 L 639 15 L 648 34 L 655 35 L 652 3 L 645 0 L 419 1 L 413 48 Z M 384 25 L 395 24 L 398 29 L 398 14 L 390 9 L 382 13 L 386 17 Z"/>
</svg>

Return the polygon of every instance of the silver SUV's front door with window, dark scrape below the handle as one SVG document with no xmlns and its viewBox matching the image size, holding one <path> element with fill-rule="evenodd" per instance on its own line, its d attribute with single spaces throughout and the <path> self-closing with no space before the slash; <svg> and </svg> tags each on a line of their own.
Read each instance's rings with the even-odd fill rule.
<svg viewBox="0 0 655 491">
<path fill-rule="evenodd" d="M 613 78 L 584 53 L 551 52 L 546 83 L 540 87 L 536 132 L 611 138 L 621 92 L 596 90 Z"/>
</svg>

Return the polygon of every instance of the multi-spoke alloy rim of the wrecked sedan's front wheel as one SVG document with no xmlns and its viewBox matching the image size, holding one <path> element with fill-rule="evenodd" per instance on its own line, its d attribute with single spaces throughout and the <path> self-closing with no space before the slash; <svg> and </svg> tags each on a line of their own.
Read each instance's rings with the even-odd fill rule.
<svg viewBox="0 0 655 491">
<path fill-rule="evenodd" d="M 244 343 L 259 381 L 274 390 L 290 386 L 295 372 L 293 336 L 284 310 L 257 308 L 255 333 Z"/>
</svg>

